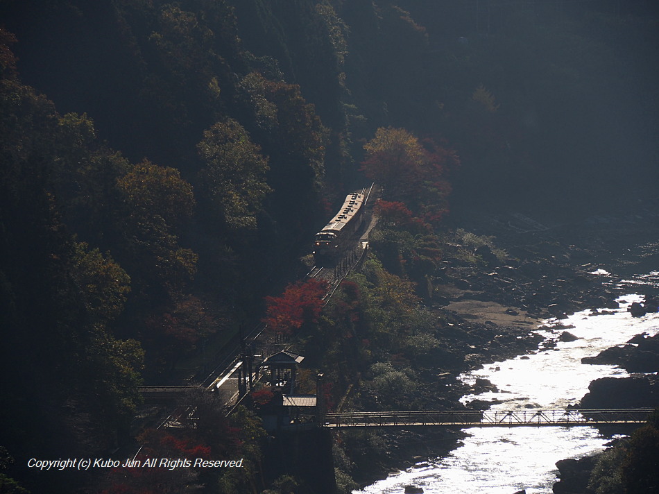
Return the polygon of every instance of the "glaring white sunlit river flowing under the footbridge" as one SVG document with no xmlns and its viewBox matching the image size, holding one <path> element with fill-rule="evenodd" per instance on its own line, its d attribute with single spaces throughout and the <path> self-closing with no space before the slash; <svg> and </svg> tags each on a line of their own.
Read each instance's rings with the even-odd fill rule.
<svg viewBox="0 0 659 494">
<path fill-rule="evenodd" d="M 610 277 L 604 270 L 606 281 Z M 653 271 L 628 280 L 615 281 L 618 287 L 644 291 L 643 285 L 659 286 L 659 272 Z M 638 295 L 621 296 L 613 314 L 590 315 L 578 312 L 560 321 L 574 326 L 568 331 L 576 341 L 558 341 L 554 348 L 541 348 L 527 358 L 490 364 L 479 371 L 461 375 L 472 383 L 483 377 L 498 392 L 468 395 L 463 401 L 503 400 L 492 409 L 564 409 L 581 400 L 592 380 L 601 377 L 624 377 L 626 371 L 615 366 L 581 364 L 582 357 L 597 355 L 601 350 L 625 343 L 635 334 L 659 332 L 659 314 L 633 318 L 628 305 L 640 301 Z M 555 325 L 558 321 L 546 321 Z M 536 330 L 547 339 L 556 340 L 562 330 Z M 390 475 L 355 493 L 403 493 L 406 485 L 423 488 L 425 494 L 513 494 L 526 489 L 527 494 L 550 494 L 556 482 L 560 459 L 579 458 L 605 448 L 609 438 L 592 427 L 490 427 L 465 429 L 470 434 L 446 457 L 429 459 L 413 468 Z"/>
</svg>

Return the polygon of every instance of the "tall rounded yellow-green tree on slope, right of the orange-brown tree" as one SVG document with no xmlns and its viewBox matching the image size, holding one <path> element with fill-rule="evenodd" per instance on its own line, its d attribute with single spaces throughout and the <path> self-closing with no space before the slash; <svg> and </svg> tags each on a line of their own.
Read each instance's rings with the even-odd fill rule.
<svg viewBox="0 0 659 494">
<path fill-rule="evenodd" d="M 203 191 L 231 230 L 256 228 L 256 214 L 271 191 L 266 183 L 268 160 L 233 119 L 205 130 L 197 145 L 206 163 L 200 172 Z"/>
</svg>

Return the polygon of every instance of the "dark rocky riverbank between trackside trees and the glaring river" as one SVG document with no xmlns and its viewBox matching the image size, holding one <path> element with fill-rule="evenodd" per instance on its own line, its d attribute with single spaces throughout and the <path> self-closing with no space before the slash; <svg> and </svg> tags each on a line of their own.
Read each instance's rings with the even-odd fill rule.
<svg viewBox="0 0 659 494">
<path fill-rule="evenodd" d="M 436 369 L 419 376 L 424 389 L 436 391 L 424 393 L 434 396 L 424 408 L 457 409 L 462 406 L 459 400 L 463 395 L 491 389 L 486 380 L 466 386 L 456 379 L 460 373 L 536 352 L 540 343 L 549 349 L 558 340 L 570 339 L 570 327 L 560 323 L 549 328 L 555 334 L 549 341 L 533 332 L 545 319 L 560 320 L 567 314 L 601 307 L 605 309 L 592 310 L 592 316 L 606 316 L 607 309 L 617 307 L 615 298 L 624 291 L 616 287 L 619 278 L 602 276 L 598 270 L 622 266 L 621 245 L 613 229 L 608 237 L 600 233 L 597 228 L 571 232 L 544 229 L 530 234 L 507 231 L 495 240 L 507 257 L 502 259 L 491 248 L 479 248 L 474 251 L 475 262 L 465 261 L 460 253 L 463 246 L 449 246 L 440 277 L 433 280 L 431 303 L 446 325 Z M 637 225 L 633 225 L 632 237 L 638 245 L 647 246 L 641 241 L 647 237 L 640 235 Z M 638 255 L 630 251 L 624 265 L 633 271 L 647 260 L 643 249 Z M 482 409 L 495 402 L 472 402 L 469 406 Z M 395 468 L 442 456 L 458 445 L 459 434 L 451 434 L 419 429 L 382 434 L 380 444 L 386 444 L 386 452 L 380 454 L 379 461 L 358 464 L 352 475 L 360 484 L 370 484 Z"/>
</svg>

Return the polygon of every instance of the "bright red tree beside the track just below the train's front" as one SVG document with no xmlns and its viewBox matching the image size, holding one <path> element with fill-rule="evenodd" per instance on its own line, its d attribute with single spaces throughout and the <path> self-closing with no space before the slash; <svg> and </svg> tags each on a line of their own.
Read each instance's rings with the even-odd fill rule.
<svg viewBox="0 0 659 494">
<path fill-rule="evenodd" d="M 279 297 L 266 297 L 268 308 L 263 322 L 275 334 L 291 334 L 307 323 L 318 322 L 327 283 L 306 280 L 289 284 Z"/>
</svg>

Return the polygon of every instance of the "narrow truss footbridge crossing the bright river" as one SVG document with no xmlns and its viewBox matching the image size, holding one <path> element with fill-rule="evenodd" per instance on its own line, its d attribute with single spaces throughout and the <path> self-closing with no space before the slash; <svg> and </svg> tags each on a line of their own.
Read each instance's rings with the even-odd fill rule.
<svg viewBox="0 0 659 494">
<path fill-rule="evenodd" d="M 325 414 L 320 427 L 528 427 L 643 424 L 653 409 L 349 411 Z"/>
</svg>

